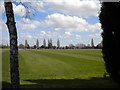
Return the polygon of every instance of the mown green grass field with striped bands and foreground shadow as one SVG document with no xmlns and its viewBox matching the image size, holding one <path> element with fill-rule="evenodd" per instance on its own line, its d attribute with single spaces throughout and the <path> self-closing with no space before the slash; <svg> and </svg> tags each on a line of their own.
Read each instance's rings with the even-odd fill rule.
<svg viewBox="0 0 120 90">
<path fill-rule="evenodd" d="M 99 49 L 19 50 L 21 88 L 114 88 L 104 78 L 104 61 Z M 9 87 L 9 50 L 2 50 L 2 82 Z"/>
</svg>

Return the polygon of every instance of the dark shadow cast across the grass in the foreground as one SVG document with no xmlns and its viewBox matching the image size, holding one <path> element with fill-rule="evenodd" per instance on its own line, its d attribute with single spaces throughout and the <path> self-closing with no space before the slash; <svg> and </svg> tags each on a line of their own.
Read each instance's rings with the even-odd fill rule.
<svg viewBox="0 0 120 90">
<path fill-rule="evenodd" d="M 33 84 L 20 85 L 20 88 L 120 88 L 120 84 L 109 78 L 91 79 L 40 79 L 24 80 Z M 2 82 L 3 88 L 11 88 L 10 83 Z"/>
</svg>

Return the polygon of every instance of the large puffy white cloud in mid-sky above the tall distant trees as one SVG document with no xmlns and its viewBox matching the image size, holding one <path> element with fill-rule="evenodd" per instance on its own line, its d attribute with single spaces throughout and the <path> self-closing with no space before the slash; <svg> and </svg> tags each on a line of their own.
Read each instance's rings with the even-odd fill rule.
<svg viewBox="0 0 120 90">
<path fill-rule="evenodd" d="M 60 13 L 48 15 L 41 25 L 54 30 L 64 29 L 67 32 L 94 32 L 100 30 L 100 23 L 89 24 L 85 19 L 77 16 L 65 16 Z"/>
</svg>

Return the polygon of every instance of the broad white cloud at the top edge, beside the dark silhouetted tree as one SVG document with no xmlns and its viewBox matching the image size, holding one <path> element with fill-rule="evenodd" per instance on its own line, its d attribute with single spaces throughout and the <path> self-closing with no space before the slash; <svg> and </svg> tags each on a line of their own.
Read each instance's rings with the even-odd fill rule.
<svg viewBox="0 0 120 90">
<path fill-rule="evenodd" d="M 100 10 L 99 0 L 46 0 L 49 10 L 80 17 L 97 16 Z"/>
</svg>

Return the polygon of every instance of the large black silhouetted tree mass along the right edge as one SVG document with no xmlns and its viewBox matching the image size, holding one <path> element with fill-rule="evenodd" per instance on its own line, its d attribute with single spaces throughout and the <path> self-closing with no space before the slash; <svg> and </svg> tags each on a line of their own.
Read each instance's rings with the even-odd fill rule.
<svg viewBox="0 0 120 90">
<path fill-rule="evenodd" d="M 103 58 L 106 71 L 116 81 L 120 81 L 120 3 L 102 3 L 100 22 L 102 24 Z"/>
</svg>

